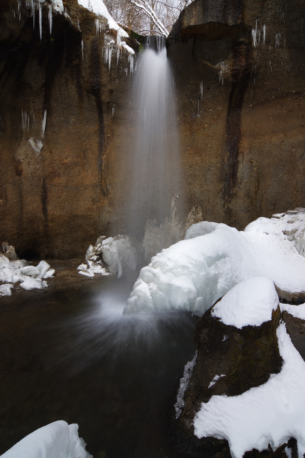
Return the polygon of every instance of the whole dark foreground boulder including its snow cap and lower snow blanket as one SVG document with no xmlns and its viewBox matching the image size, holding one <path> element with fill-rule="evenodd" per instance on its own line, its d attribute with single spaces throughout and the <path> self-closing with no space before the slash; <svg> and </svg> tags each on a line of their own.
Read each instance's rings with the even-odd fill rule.
<svg viewBox="0 0 305 458">
<path fill-rule="evenodd" d="M 242 458 L 294 437 L 303 456 L 305 362 L 281 316 L 273 282 L 264 277 L 237 284 L 201 316 L 197 358 L 173 414 L 181 448 L 208 457 L 227 440 L 232 457 Z"/>
</svg>

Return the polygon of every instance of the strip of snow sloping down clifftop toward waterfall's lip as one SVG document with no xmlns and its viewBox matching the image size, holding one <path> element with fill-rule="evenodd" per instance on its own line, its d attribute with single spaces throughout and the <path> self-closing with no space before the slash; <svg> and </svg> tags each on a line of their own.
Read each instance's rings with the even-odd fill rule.
<svg viewBox="0 0 305 458">
<path fill-rule="evenodd" d="M 111 17 L 102 0 L 78 0 L 78 5 L 87 8 L 89 11 L 92 11 L 96 16 L 105 17 L 105 19 L 108 21 L 109 29 L 116 31 L 116 46 L 118 48 L 125 49 L 129 55 L 134 55 L 134 50 L 130 48 L 130 46 L 128 46 L 122 39 L 129 38 L 128 33 L 125 32 L 125 30 L 123 30 L 122 27 L 120 27 Z"/>
</svg>

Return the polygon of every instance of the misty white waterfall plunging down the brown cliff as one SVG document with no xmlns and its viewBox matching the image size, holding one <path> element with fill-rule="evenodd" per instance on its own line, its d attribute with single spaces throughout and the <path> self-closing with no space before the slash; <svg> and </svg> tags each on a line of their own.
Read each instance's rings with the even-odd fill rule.
<svg viewBox="0 0 305 458">
<path fill-rule="evenodd" d="M 164 37 L 147 37 L 133 79 L 134 137 L 128 233 L 142 240 L 147 220 L 162 224 L 179 185 L 173 75 Z"/>
</svg>

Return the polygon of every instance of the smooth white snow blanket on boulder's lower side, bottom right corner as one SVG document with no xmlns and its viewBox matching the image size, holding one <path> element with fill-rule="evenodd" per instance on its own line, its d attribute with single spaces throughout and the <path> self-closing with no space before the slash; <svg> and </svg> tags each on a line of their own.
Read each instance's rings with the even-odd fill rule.
<svg viewBox="0 0 305 458">
<path fill-rule="evenodd" d="M 305 362 L 294 348 L 284 323 L 277 328 L 282 370 L 268 382 L 239 396 L 212 396 L 201 403 L 194 419 L 198 438 L 227 439 L 233 458 L 256 448 L 277 448 L 290 437 L 298 441 L 299 456 L 305 453 Z"/>
</svg>

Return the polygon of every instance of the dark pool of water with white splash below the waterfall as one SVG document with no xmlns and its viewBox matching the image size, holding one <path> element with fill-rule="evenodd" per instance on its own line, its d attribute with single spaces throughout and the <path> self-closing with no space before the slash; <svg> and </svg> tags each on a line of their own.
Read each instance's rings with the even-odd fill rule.
<svg viewBox="0 0 305 458">
<path fill-rule="evenodd" d="M 122 316 L 136 277 L 1 298 L 0 454 L 66 420 L 94 458 L 183 456 L 168 419 L 197 317 Z"/>
</svg>

